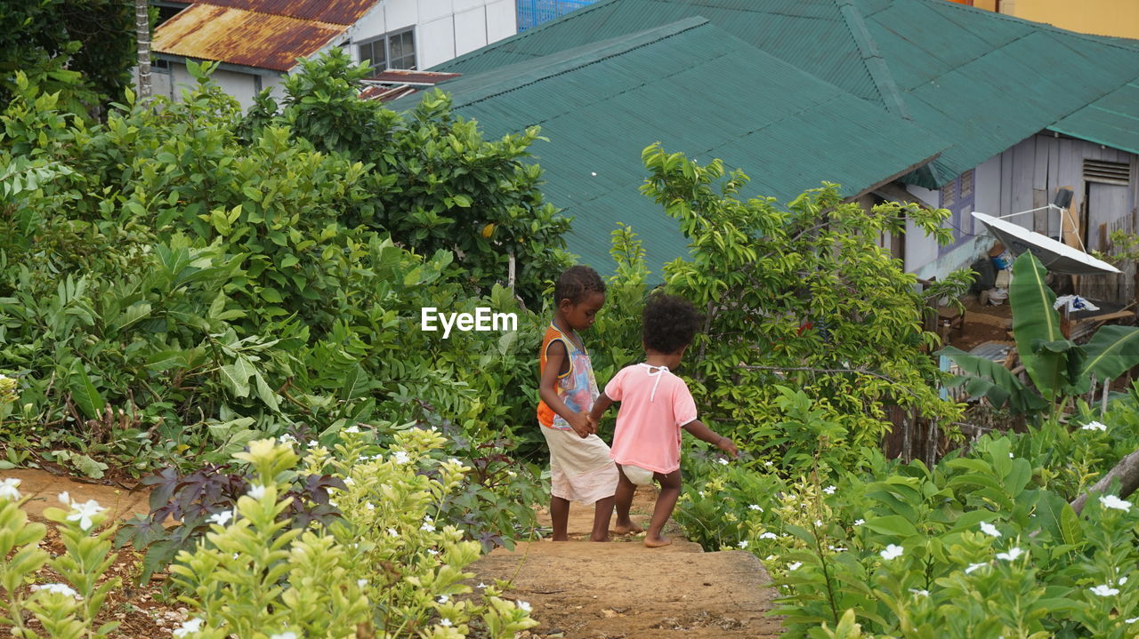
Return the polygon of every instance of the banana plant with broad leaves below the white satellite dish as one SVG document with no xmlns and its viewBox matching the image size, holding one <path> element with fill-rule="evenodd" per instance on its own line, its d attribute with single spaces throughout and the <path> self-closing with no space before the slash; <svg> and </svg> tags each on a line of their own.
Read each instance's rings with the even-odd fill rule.
<svg viewBox="0 0 1139 639">
<path fill-rule="evenodd" d="M 1008 405 L 1014 413 L 1036 415 L 1088 392 L 1092 376 L 1107 383 L 1139 365 L 1139 327 L 1104 326 L 1085 345 L 1065 338 L 1052 306 L 1056 294 L 1044 284 L 1046 274 L 1031 252 L 1013 264 L 1013 338 L 1031 387 L 983 357 L 953 347 L 939 351 L 965 371 L 954 381 L 964 382 L 972 397 L 985 397 L 998 407 Z"/>
</svg>

